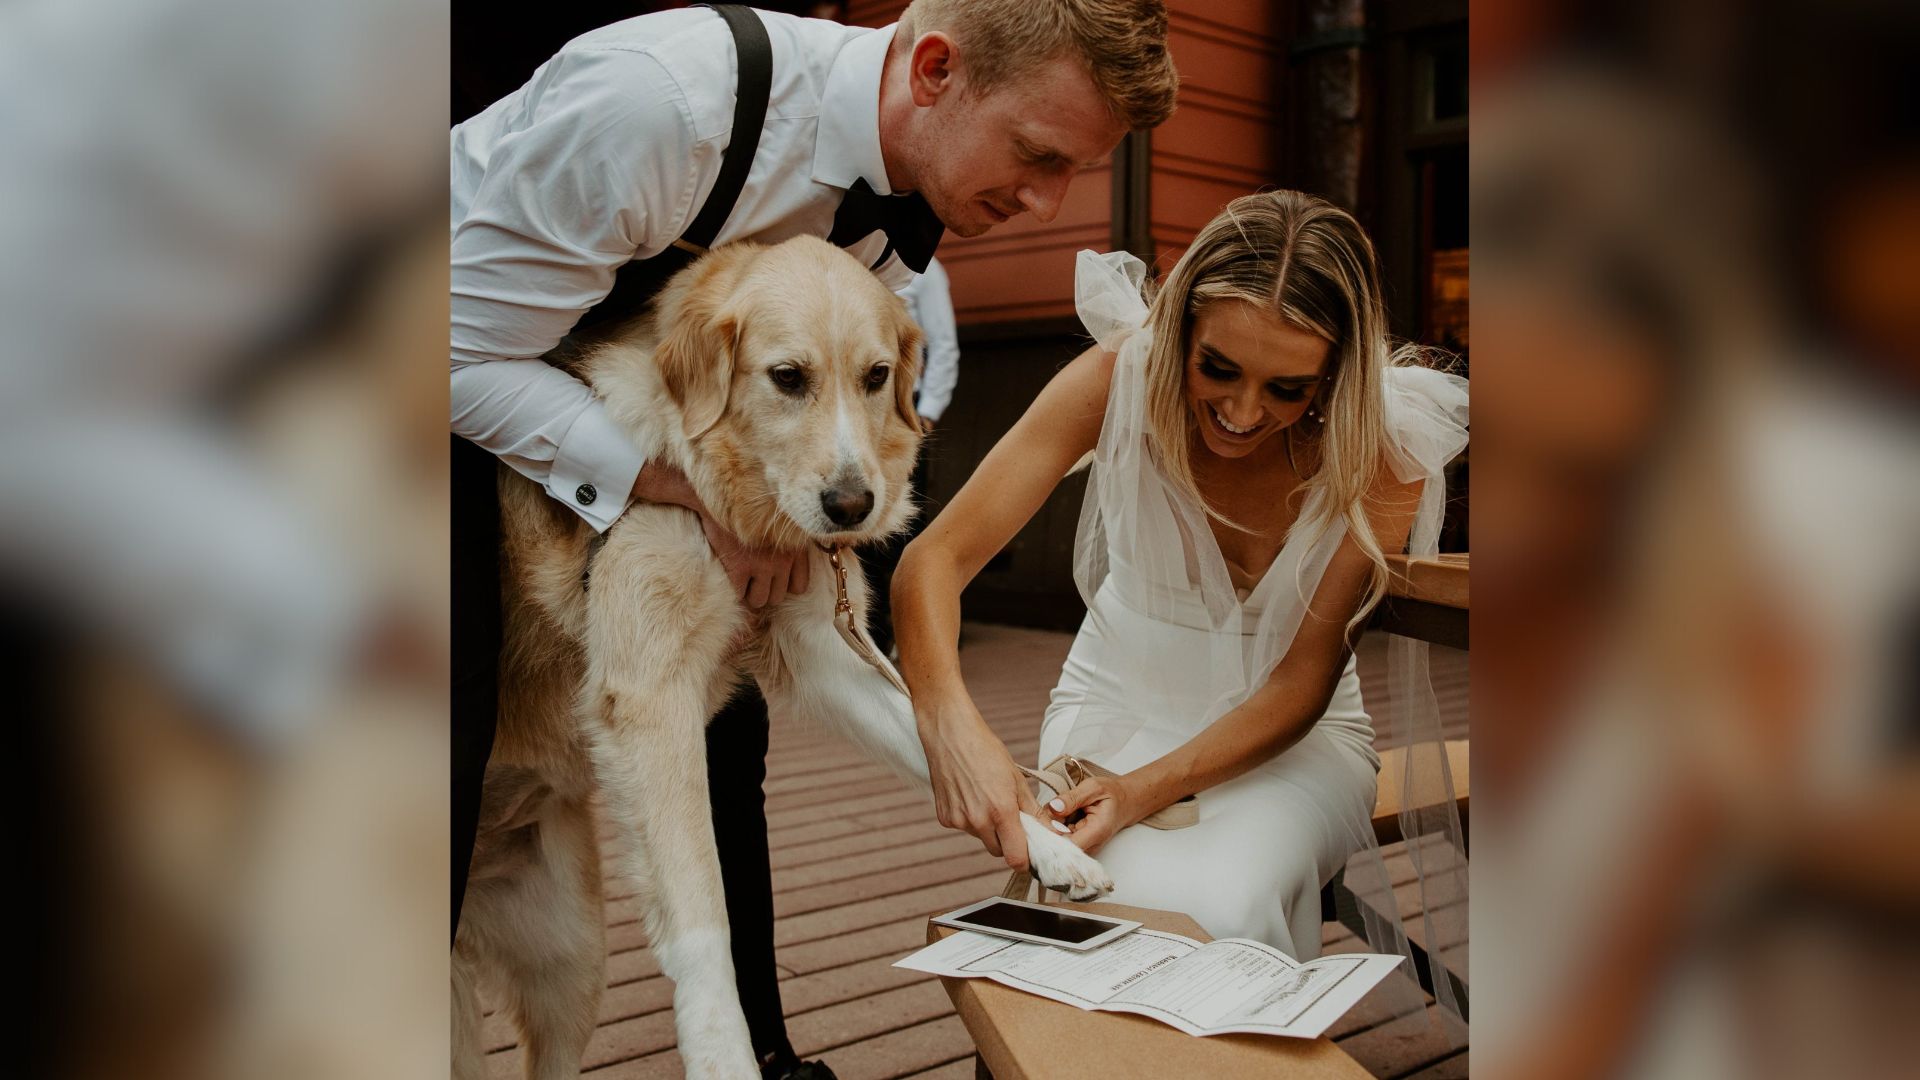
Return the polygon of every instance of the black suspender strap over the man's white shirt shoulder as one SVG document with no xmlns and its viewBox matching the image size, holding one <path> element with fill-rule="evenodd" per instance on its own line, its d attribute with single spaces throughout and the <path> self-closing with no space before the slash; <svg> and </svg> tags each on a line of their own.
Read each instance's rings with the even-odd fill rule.
<svg viewBox="0 0 1920 1080">
<path fill-rule="evenodd" d="M 720 158 L 720 177 L 687 231 L 651 259 L 634 259 L 614 275 L 612 290 L 595 304 L 574 331 L 611 329 L 645 311 L 647 302 L 666 284 L 666 279 L 707 254 L 720 227 L 733 213 L 739 192 L 753 171 L 753 156 L 760 150 L 760 127 L 766 125 L 766 106 L 774 90 L 774 46 L 766 38 L 766 23 L 751 8 L 739 4 L 707 4 L 733 31 L 733 52 L 739 56 L 739 83 L 733 90 L 733 133 Z"/>
</svg>

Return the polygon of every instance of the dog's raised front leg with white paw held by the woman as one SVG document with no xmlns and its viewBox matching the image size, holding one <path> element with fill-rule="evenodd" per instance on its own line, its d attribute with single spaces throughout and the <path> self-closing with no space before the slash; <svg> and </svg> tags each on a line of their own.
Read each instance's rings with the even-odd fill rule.
<svg viewBox="0 0 1920 1080">
<path fill-rule="evenodd" d="M 866 625 L 866 578 L 851 552 L 847 596 L 854 625 Z M 833 573 L 824 555 L 814 557 L 814 588 L 789 598 L 772 615 L 756 661 L 760 690 L 778 717 L 820 723 L 845 736 L 870 757 L 931 792 L 927 751 L 920 744 L 914 703 L 876 667 L 860 657 L 833 625 Z M 826 588 L 820 588 L 826 582 Z M 1071 899 L 1114 892 L 1114 878 L 1071 840 L 1020 815 L 1027 857 L 1046 888 Z"/>
</svg>

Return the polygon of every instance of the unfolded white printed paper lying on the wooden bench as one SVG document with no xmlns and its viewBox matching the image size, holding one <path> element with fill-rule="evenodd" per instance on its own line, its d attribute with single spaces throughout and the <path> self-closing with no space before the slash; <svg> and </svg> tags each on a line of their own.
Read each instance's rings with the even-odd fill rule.
<svg viewBox="0 0 1920 1080">
<path fill-rule="evenodd" d="M 956 930 L 893 967 L 991 978 L 1079 1009 L 1152 1017 L 1190 1036 L 1317 1038 L 1398 963 L 1375 953 L 1298 963 L 1261 942 L 1202 945 L 1142 928 L 1089 951 Z"/>
</svg>

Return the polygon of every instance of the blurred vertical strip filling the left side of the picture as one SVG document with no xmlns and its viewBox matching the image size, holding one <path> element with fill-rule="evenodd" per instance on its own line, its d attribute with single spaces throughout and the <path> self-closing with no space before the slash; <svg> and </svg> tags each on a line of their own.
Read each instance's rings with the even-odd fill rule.
<svg viewBox="0 0 1920 1080">
<path fill-rule="evenodd" d="M 445 71 L 0 8 L 8 1074 L 445 1074 Z"/>
</svg>

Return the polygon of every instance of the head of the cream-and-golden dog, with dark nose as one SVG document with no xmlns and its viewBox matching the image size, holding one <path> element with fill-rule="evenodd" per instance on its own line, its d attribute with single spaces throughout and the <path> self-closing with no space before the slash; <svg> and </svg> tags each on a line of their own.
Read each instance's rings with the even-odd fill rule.
<svg viewBox="0 0 1920 1080">
<path fill-rule="evenodd" d="M 920 329 L 858 259 L 816 236 L 720 248 L 668 284 L 655 325 L 701 496 L 741 538 L 856 544 L 906 525 Z"/>
</svg>

